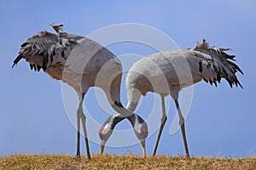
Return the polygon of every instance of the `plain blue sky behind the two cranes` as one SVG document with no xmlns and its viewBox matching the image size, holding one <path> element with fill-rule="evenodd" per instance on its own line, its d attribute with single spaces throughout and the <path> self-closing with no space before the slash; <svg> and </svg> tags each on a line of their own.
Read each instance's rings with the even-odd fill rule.
<svg viewBox="0 0 256 170">
<path fill-rule="evenodd" d="M 153 26 L 171 37 L 180 48 L 193 48 L 195 42 L 207 38 L 210 45 L 232 48 L 237 64 L 245 75 L 239 75 L 244 89 L 230 88 L 222 81 L 218 88 L 205 82 L 195 84 L 192 106 L 186 120 L 189 150 L 193 156 L 255 156 L 256 154 L 256 74 L 253 56 L 256 39 L 256 3 L 245 1 L 2 1 L 0 5 L 0 156 L 15 153 L 69 154 L 76 150 L 76 131 L 69 121 L 62 101 L 61 82 L 52 80 L 43 71 L 30 71 L 23 60 L 17 68 L 11 65 L 20 44 L 38 31 L 52 31 L 49 23 L 64 24 L 65 31 L 82 36 L 105 26 L 137 23 Z M 150 35 L 148 35 L 150 36 Z M 108 47 L 117 56 L 147 55 L 152 49 L 133 43 Z M 122 102 L 126 105 L 125 77 L 122 82 Z M 73 99 L 73 98 L 72 98 Z M 156 99 L 159 99 L 156 96 Z M 73 99 L 77 105 L 76 97 Z M 137 113 L 147 118 L 154 94 L 143 98 Z M 97 104 L 91 88 L 84 105 L 95 114 L 97 122 L 108 117 Z M 170 135 L 176 110 L 170 100 L 170 111 L 158 154 L 184 153 L 181 132 Z M 75 114 L 75 110 L 74 114 Z M 160 109 L 159 109 L 160 112 Z M 160 115 L 160 113 L 159 113 Z M 159 120 L 154 123 L 160 124 Z M 129 127 L 122 122 L 117 128 Z M 150 126 L 150 125 L 149 125 Z M 90 129 L 89 135 L 97 129 Z M 150 127 L 149 127 L 150 130 Z M 89 138 L 90 138 L 89 136 Z M 154 149 L 156 133 L 148 138 L 147 152 Z M 99 152 L 99 145 L 90 142 L 90 151 Z M 139 144 L 121 148 L 108 147 L 107 152 L 140 153 Z M 82 153 L 84 140 L 82 140 Z"/>
</svg>

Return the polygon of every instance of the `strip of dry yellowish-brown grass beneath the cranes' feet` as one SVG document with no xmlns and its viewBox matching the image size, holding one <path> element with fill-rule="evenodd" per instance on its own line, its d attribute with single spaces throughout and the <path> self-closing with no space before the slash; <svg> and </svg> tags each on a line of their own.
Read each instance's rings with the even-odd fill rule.
<svg viewBox="0 0 256 170">
<path fill-rule="evenodd" d="M 81 161 L 65 155 L 14 155 L 0 157 L 0 169 L 256 169 L 256 157 L 221 158 L 183 156 L 94 155 Z"/>
</svg>

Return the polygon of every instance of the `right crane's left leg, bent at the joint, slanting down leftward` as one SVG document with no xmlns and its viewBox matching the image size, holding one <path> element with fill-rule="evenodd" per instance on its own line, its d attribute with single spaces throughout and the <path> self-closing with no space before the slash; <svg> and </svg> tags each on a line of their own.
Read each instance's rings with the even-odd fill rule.
<svg viewBox="0 0 256 170">
<path fill-rule="evenodd" d="M 153 156 L 155 156 L 156 154 L 156 150 L 160 141 L 160 136 L 161 133 L 163 131 L 163 128 L 165 127 L 166 124 L 166 120 L 167 120 L 167 116 L 166 116 L 166 102 L 165 102 L 165 97 L 161 95 L 161 102 L 162 102 L 162 118 L 161 118 L 161 125 L 160 125 L 160 129 L 159 129 L 159 133 L 154 145 L 154 152 L 153 152 Z"/>
</svg>

